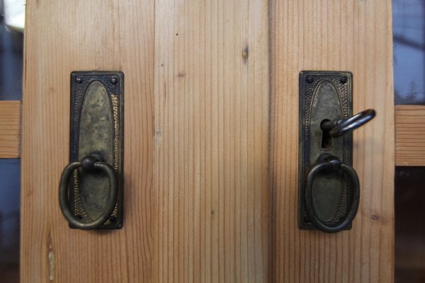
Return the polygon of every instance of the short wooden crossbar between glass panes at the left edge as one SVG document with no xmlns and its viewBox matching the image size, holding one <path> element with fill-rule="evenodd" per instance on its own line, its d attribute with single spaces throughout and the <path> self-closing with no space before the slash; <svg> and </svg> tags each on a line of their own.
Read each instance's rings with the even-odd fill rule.
<svg viewBox="0 0 425 283">
<path fill-rule="evenodd" d="M 0 158 L 21 156 L 21 101 L 0 101 Z"/>
</svg>

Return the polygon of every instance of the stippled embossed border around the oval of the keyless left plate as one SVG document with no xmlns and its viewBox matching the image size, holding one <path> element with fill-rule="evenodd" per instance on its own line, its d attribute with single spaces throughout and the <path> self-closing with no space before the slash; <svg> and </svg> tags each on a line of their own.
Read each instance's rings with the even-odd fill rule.
<svg viewBox="0 0 425 283">
<path fill-rule="evenodd" d="M 121 71 L 73 71 L 71 73 L 71 122 L 69 134 L 69 161 L 79 161 L 79 125 L 81 108 L 86 90 L 93 81 L 100 81 L 108 92 L 113 111 L 113 168 L 118 175 L 118 195 L 110 220 L 99 229 L 120 229 L 123 227 L 123 133 L 124 133 L 124 74 Z M 74 215 L 90 219 L 81 204 L 77 171 L 70 182 L 73 190 L 69 203 Z M 111 221 L 113 219 L 113 221 Z M 69 225 L 71 228 L 75 228 Z"/>
</svg>

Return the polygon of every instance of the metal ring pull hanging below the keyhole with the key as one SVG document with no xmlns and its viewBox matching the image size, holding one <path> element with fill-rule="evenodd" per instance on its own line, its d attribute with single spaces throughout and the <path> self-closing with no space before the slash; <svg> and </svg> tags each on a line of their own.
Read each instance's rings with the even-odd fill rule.
<svg viewBox="0 0 425 283">
<path fill-rule="evenodd" d="M 339 221 L 339 224 L 336 226 L 329 226 L 323 221 L 321 221 L 317 216 L 317 212 L 313 204 L 313 180 L 317 175 L 319 175 L 319 173 L 323 171 L 343 171 L 344 173 L 346 173 L 346 175 L 348 175 L 348 180 L 351 183 L 351 206 L 348 208 L 348 212 L 344 219 Z M 310 217 L 310 221 L 312 221 L 312 224 L 314 224 L 317 229 L 327 233 L 335 233 L 344 230 L 349 224 L 351 224 L 354 219 L 354 216 L 356 216 L 359 202 L 360 182 L 358 180 L 356 171 L 354 171 L 351 166 L 341 163 L 341 161 L 339 161 L 336 156 L 320 156 L 318 158 L 318 162 L 310 168 L 310 171 L 308 171 L 305 185 L 305 209 L 307 211 L 307 215 Z"/>
</svg>

